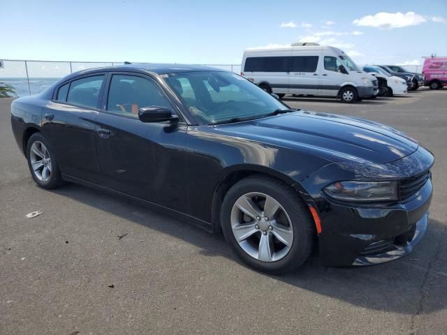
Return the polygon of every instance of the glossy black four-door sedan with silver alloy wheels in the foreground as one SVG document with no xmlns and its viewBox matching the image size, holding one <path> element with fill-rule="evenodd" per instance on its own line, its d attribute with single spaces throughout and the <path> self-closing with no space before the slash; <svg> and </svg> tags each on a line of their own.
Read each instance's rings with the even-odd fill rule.
<svg viewBox="0 0 447 335">
<path fill-rule="evenodd" d="M 371 265 L 425 232 L 434 158 L 372 121 L 291 110 L 223 70 L 83 70 L 11 106 L 34 181 L 124 195 L 213 232 L 247 264 Z"/>
</svg>

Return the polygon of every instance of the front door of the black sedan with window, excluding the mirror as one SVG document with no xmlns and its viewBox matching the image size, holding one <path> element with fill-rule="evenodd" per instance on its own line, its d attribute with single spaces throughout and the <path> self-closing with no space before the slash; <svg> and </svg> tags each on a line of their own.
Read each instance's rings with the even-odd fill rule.
<svg viewBox="0 0 447 335">
<path fill-rule="evenodd" d="M 168 96 L 151 77 L 112 73 L 103 110 L 96 119 L 101 184 L 137 198 L 185 211 L 186 124 L 144 123 L 138 109 L 169 107 Z"/>
</svg>

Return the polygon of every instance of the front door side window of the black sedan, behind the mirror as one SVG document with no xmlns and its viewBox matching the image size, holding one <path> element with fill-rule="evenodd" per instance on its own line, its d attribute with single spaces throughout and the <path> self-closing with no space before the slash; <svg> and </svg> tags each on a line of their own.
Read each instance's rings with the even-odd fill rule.
<svg viewBox="0 0 447 335">
<path fill-rule="evenodd" d="M 138 117 L 140 107 L 172 108 L 152 80 L 133 75 L 113 75 L 110 82 L 107 110 Z"/>
</svg>

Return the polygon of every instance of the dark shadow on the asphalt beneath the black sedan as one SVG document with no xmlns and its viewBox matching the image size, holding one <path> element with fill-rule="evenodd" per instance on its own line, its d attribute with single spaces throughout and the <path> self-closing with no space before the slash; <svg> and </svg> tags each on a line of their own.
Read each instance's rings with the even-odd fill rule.
<svg viewBox="0 0 447 335">
<path fill-rule="evenodd" d="M 201 255 L 223 256 L 237 262 L 241 267 L 245 267 L 235 253 L 230 250 L 230 246 L 226 244 L 222 234 L 211 234 L 128 198 L 76 184 L 67 184 L 52 192 L 149 229 L 182 239 L 198 246 Z M 432 300 L 427 299 L 427 292 L 424 288 L 424 285 L 427 285 L 428 271 L 433 266 L 434 258 L 441 260 L 447 256 L 440 255 L 437 250 L 437 245 L 440 245 L 439 238 L 445 232 L 446 225 L 430 220 L 425 237 L 411 255 L 382 265 L 324 267 L 320 264 L 316 251 L 309 261 L 297 271 L 282 275 L 260 274 L 266 278 L 274 278 L 276 281 L 367 309 L 409 315 L 432 313 L 447 306 L 447 295 L 442 293 L 447 292 L 445 268 L 432 269 L 435 273 L 434 276 L 439 278 L 437 283 L 439 294 L 433 300 L 435 303 L 427 303 Z M 424 308 L 422 308 L 424 301 Z"/>
</svg>

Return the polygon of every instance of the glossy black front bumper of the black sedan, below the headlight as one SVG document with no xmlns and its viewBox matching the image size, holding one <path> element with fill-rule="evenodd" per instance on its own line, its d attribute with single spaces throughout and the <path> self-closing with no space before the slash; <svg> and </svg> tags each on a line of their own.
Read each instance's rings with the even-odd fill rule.
<svg viewBox="0 0 447 335">
<path fill-rule="evenodd" d="M 409 254 L 427 226 L 432 182 L 411 200 L 393 207 L 332 203 L 321 221 L 320 257 L 325 265 L 374 265 Z"/>
</svg>

